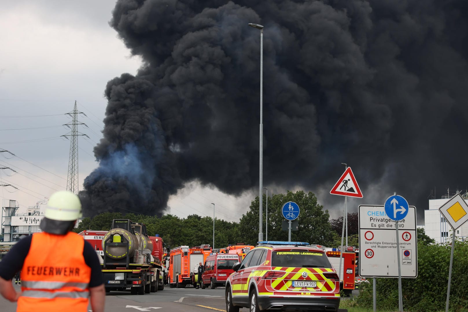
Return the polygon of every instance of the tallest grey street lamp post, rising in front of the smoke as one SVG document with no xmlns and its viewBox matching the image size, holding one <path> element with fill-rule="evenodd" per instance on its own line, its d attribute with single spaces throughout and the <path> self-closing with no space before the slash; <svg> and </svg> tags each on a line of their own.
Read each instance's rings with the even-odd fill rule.
<svg viewBox="0 0 468 312">
<path fill-rule="evenodd" d="M 260 204 L 258 216 L 258 240 L 263 240 L 263 26 L 259 24 L 249 23 L 250 27 L 260 29 Z"/>
</svg>

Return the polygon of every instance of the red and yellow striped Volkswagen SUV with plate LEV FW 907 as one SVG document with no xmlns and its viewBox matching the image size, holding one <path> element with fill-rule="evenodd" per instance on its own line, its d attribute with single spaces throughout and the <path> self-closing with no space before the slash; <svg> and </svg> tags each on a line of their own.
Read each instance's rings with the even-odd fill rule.
<svg viewBox="0 0 468 312">
<path fill-rule="evenodd" d="M 262 241 L 226 281 L 226 311 L 338 311 L 340 281 L 322 249 L 305 242 Z"/>
</svg>

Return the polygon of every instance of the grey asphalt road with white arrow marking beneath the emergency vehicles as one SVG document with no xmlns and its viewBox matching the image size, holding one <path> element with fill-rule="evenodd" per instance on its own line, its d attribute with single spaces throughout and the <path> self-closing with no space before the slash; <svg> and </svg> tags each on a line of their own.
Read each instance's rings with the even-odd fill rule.
<svg viewBox="0 0 468 312">
<path fill-rule="evenodd" d="M 19 290 L 20 286 L 14 285 Z M 353 296 L 358 290 L 353 291 Z M 342 298 L 343 300 L 344 298 Z M 105 312 L 138 312 L 160 310 L 161 312 L 209 312 L 226 311 L 224 287 L 212 289 L 169 288 L 145 295 L 130 295 L 130 291 L 111 291 L 106 295 Z M 15 312 L 16 303 L 0 296 L 2 312 Z M 91 311 L 91 307 L 89 307 Z M 241 309 L 247 312 L 249 309 Z M 345 312 L 346 310 L 340 310 Z"/>
</svg>

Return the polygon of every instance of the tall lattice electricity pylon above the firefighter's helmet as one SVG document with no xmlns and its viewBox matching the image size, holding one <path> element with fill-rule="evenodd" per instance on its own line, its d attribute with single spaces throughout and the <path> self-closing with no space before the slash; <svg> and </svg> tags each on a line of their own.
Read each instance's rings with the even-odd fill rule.
<svg viewBox="0 0 468 312">
<path fill-rule="evenodd" d="M 68 175 L 66 178 L 66 190 L 70 191 L 74 194 L 78 194 L 78 137 L 85 136 L 87 138 L 88 135 L 78 132 L 78 125 L 83 125 L 88 128 L 86 123 L 78 122 L 78 114 L 83 114 L 86 116 L 85 113 L 79 112 L 76 108 L 76 101 L 75 107 L 69 113 L 65 115 L 70 115 L 72 117 L 72 121 L 70 123 L 64 124 L 72 131 L 68 132 L 67 134 L 61 136 L 67 139 L 70 139 L 70 158 L 68 159 Z"/>
</svg>

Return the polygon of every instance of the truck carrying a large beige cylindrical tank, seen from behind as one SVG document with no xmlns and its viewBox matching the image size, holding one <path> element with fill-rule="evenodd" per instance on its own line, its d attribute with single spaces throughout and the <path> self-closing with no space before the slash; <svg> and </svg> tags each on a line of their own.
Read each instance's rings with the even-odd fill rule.
<svg viewBox="0 0 468 312">
<path fill-rule="evenodd" d="M 164 289 L 163 240 L 148 236 L 146 226 L 129 219 L 112 220 L 102 239 L 102 273 L 106 292 L 130 288 L 132 295 Z"/>
</svg>

